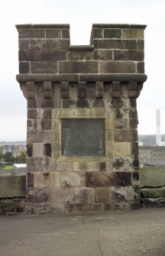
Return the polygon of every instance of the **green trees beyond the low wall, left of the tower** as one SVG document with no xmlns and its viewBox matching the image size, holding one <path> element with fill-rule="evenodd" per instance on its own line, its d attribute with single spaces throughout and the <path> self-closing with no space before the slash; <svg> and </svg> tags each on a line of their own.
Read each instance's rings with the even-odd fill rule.
<svg viewBox="0 0 165 256">
<path fill-rule="evenodd" d="M 24 164 L 26 163 L 26 157 L 26 151 L 21 151 L 17 157 L 14 157 L 12 152 L 7 151 L 5 154 L 3 154 L 2 149 L 0 149 L 0 162 L 5 164 Z"/>
</svg>

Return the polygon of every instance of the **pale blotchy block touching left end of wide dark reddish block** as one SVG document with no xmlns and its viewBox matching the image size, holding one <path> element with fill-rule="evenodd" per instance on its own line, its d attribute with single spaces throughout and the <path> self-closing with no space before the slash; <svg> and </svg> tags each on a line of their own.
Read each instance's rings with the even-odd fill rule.
<svg viewBox="0 0 165 256">
<path fill-rule="evenodd" d="M 63 172 L 60 175 L 60 186 L 85 186 L 85 174 L 76 172 Z"/>
</svg>

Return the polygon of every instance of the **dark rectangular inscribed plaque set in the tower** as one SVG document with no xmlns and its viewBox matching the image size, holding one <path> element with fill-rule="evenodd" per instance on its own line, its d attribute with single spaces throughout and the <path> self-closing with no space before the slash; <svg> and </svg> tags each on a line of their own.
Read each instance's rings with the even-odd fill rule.
<svg viewBox="0 0 165 256">
<path fill-rule="evenodd" d="M 65 156 L 104 156 L 105 119 L 61 119 L 61 145 Z"/>
</svg>

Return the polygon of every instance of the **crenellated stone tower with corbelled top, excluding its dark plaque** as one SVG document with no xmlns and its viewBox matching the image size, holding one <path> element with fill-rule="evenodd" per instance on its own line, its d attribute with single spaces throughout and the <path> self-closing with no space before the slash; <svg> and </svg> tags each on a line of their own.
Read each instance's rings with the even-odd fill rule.
<svg viewBox="0 0 165 256">
<path fill-rule="evenodd" d="M 70 46 L 68 24 L 17 25 L 27 99 L 27 212 L 139 209 L 137 106 L 144 25 L 93 24 Z M 104 118 L 105 156 L 61 155 L 62 118 Z"/>
</svg>

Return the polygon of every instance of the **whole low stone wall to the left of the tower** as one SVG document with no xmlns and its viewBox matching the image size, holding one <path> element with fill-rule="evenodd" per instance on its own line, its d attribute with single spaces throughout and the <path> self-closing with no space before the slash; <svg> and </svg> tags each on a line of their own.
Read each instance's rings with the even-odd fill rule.
<svg viewBox="0 0 165 256">
<path fill-rule="evenodd" d="M 25 196 L 25 175 L 8 175 L 0 177 L 0 214 L 24 212 Z"/>
</svg>

